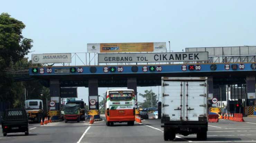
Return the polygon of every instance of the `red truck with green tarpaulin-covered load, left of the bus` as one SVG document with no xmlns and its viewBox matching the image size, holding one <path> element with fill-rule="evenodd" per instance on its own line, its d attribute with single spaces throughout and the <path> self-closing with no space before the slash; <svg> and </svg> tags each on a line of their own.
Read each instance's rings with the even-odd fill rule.
<svg viewBox="0 0 256 143">
<path fill-rule="evenodd" d="M 63 105 L 64 121 L 77 121 L 80 122 L 80 106 L 77 104 Z"/>
</svg>

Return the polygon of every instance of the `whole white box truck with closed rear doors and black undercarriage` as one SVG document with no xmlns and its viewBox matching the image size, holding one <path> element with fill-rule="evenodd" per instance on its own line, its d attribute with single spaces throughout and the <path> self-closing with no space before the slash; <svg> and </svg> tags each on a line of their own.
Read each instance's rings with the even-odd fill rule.
<svg viewBox="0 0 256 143">
<path fill-rule="evenodd" d="M 176 134 L 207 140 L 207 77 L 162 77 L 161 112 L 165 141 L 174 140 Z"/>
</svg>

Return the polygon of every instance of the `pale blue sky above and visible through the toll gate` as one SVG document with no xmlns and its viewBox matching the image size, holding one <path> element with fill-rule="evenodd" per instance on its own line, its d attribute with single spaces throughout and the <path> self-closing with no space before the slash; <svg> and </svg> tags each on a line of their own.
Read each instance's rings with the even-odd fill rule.
<svg viewBox="0 0 256 143">
<path fill-rule="evenodd" d="M 256 45 L 255 6 L 255 0 L 1 0 L 0 13 L 26 24 L 22 34 L 34 40 L 31 59 L 86 52 L 87 43 L 170 41 L 174 52 Z M 158 94 L 158 87 L 139 87 L 138 93 L 150 88 Z M 88 89 L 78 91 L 79 99 L 88 99 Z"/>
</svg>

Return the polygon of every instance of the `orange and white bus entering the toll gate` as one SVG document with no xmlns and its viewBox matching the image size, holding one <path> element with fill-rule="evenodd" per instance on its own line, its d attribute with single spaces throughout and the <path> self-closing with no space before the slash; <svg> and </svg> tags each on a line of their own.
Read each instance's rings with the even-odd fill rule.
<svg viewBox="0 0 256 143">
<path fill-rule="evenodd" d="M 136 100 L 134 90 L 108 90 L 105 96 L 106 125 L 113 126 L 114 122 L 127 122 L 128 125 L 134 125 Z"/>
</svg>

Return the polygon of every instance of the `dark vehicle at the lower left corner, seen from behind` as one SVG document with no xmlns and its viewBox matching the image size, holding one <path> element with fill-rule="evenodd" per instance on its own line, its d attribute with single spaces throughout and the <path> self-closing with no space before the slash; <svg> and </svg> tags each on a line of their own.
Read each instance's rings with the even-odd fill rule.
<svg viewBox="0 0 256 143">
<path fill-rule="evenodd" d="M 25 132 L 25 135 L 28 135 L 28 116 L 25 109 L 6 110 L 1 123 L 3 136 L 18 132 Z"/>
</svg>

